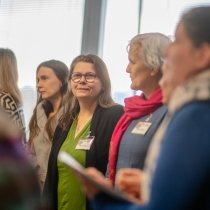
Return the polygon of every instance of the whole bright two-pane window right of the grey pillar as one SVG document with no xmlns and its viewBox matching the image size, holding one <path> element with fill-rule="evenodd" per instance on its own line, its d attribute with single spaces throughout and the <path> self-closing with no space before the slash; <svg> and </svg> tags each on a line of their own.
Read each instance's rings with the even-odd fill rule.
<svg viewBox="0 0 210 210">
<path fill-rule="evenodd" d="M 102 58 L 107 64 L 114 100 L 135 94 L 126 73 L 126 46 L 138 33 L 160 32 L 174 35 L 180 15 L 197 5 L 210 5 L 210 0 L 107 0 Z M 139 91 L 137 91 L 139 94 Z"/>
</svg>

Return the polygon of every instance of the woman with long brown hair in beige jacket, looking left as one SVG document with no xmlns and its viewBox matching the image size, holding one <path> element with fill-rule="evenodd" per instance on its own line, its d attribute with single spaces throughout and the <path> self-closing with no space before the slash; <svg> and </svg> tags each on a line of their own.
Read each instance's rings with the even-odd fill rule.
<svg viewBox="0 0 210 210">
<path fill-rule="evenodd" d="M 29 123 L 28 153 L 43 188 L 53 134 L 63 114 L 62 100 L 67 92 L 68 67 L 49 60 L 37 67 L 37 104 Z"/>
</svg>

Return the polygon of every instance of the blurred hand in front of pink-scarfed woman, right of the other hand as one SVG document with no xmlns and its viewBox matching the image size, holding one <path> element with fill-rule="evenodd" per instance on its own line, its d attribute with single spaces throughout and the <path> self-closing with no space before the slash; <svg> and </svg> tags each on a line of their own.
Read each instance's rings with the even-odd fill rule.
<svg viewBox="0 0 210 210">
<path fill-rule="evenodd" d="M 142 171 L 139 169 L 124 168 L 116 174 L 115 184 L 119 190 L 128 194 L 130 198 L 137 198 L 141 202 Z"/>
</svg>

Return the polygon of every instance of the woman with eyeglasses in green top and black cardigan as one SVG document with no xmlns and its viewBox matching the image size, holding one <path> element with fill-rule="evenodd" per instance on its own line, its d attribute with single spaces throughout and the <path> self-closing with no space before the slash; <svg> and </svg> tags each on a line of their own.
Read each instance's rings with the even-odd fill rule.
<svg viewBox="0 0 210 210">
<path fill-rule="evenodd" d="M 54 134 L 44 194 L 49 209 L 90 209 L 81 185 L 69 168 L 57 161 L 66 151 L 84 167 L 105 174 L 109 143 L 123 107 L 111 97 L 111 82 L 105 63 L 96 55 L 79 55 L 70 67 L 70 91 L 65 114 Z"/>
</svg>

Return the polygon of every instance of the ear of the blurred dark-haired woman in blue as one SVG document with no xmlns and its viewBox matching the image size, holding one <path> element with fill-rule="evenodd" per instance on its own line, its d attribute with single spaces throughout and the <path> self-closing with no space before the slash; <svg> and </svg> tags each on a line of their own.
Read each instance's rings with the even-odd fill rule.
<svg viewBox="0 0 210 210">
<path fill-rule="evenodd" d="M 210 44 L 203 43 L 198 48 L 196 67 L 197 69 L 206 69 L 210 66 Z"/>
</svg>

